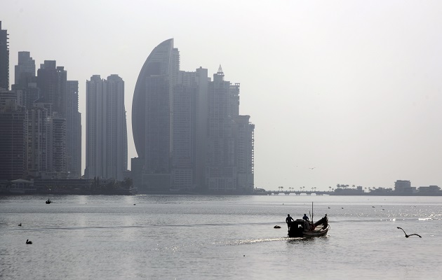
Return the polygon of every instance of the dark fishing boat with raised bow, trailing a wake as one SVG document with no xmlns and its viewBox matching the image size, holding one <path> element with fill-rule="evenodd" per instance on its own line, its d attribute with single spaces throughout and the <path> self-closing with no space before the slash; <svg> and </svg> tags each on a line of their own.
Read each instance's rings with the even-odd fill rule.
<svg viewBox="0 0 442 280">
<path fill-rule="evenodd" d="M 330 229 L 327 214 L 316 223 L 297 219 L 289 223 L 289 226 L 288 237 L 323 237 Z"/>
</svg>

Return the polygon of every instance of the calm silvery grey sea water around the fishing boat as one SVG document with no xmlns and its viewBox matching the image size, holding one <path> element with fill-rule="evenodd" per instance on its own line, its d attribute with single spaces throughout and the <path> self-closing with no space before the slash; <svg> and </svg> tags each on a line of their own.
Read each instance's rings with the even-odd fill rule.
<svg viewBox="0 0 442 280">
<path fill-rule="evenodd" d="M 442 279 L 442 197 L 50 198 L 0 197 L 0 279 Z"/>
</svg>

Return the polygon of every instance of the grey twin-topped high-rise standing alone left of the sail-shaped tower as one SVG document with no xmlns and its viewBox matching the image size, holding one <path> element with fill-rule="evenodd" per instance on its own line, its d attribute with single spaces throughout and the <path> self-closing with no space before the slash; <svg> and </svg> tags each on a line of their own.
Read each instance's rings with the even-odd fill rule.
<svg viewBox="0 0 442 280">
<path fill-rule="evenodd" d="M 93 75 L 86 81 L 86 179 L 123 181 L 127 169 L 124 81 Z"/>
</svg>

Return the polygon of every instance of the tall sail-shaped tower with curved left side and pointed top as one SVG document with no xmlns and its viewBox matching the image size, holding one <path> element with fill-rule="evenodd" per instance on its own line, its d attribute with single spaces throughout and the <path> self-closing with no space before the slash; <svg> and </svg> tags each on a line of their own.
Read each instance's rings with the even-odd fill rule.
<svg viewBox="0 0 442 280">
<path fill-rule="evenodd" d="M 143 189 L 170 188 L 173 148 L 173 86 L 178 80 L 180 55 L 173 39 L 152 50 L 135 85 L 132 131 L 142 161 Z"/>
</svg>

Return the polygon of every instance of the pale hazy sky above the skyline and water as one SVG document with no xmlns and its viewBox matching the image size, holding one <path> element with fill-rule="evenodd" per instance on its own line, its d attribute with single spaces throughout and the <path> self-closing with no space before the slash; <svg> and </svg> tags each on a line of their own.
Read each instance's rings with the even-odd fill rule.
<svg viewBox="0 0 442 280">
<path fill-rule="evenodd" d="M 442 1 L 1 0 L 18 51 L 79 80 L 125 81 L 128 154 L 138 73 L 175 39 L 181 70 L 221 64 L 255 124 L 255 186 L 442 187 Z M 84 168 L 84 140 L 83 167 Z M 130 162 L 130 160 L 129 160 Z M 315 167 L 309 169 L 309 167 Z"/>
</svg>

